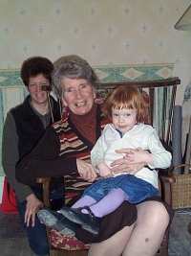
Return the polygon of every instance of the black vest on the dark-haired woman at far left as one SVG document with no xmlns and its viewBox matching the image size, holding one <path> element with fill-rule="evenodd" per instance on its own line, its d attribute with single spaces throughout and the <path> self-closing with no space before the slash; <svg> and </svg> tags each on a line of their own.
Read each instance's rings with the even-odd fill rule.
<svg viewBox="0 0 191 256">
<path fill-rule="evenodd" d="M 53 118 L 54 121 L 58 121 L 60 119 L 59 106 L 54 101 L 53 97 L 52 103 Z M 32 151 L 39 139 L 43 136 L 45 128 L 30 105 L 30 96 L 25 99 L 23 104 L 12 108 L 11 114 L 16 126 L 19 158 L 21 159 L 25 154 Z"/>
</svg>

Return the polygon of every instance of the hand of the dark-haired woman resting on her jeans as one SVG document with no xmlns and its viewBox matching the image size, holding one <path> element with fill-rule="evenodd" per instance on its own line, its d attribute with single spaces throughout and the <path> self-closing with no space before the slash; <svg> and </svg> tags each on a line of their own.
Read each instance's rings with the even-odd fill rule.
<svg viewBox="0 0 191 256">
<path fill-rule="evenodd" d="M 27 205 L 25 211 L 25 223 L 27 226 L 34 226 L 35 224 L 35 215 L 37 211 L 43 207 L 43 202 L 35 197 L 34 194 L 31 194 L 26 198 Z"/>
</svg>

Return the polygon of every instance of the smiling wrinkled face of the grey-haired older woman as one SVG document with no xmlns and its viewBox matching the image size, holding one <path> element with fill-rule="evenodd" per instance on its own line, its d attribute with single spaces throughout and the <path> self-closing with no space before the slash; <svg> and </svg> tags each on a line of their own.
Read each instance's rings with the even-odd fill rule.
<svg viewBox="0 0 191 256">
<path fill-rule="evenodd" d="M 96 93 L 89 81 L 64 78 L 61 87 L 63 105 L 68 106 L 75 115 L 85 115 L 90 112 Z"/>
</svg>

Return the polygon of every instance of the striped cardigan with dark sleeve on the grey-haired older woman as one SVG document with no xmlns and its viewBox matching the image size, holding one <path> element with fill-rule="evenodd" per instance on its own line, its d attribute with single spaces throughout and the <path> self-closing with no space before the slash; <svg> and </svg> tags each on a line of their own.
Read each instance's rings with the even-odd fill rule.
<svg viewBox="0 0 191 256">
<path fill-rule="evenodd" d="M 108 120 L 97 107 L 96 138 L 107 123 Z M 36 177 L 77 173 L 76 158 L 90 161 L 93 146 L 75 128 L 70 117 L 62 119 L 48 128 L 38 145 L 18 163 L 16 178 L 19 182 L 33 185 Z"/>
</svg>

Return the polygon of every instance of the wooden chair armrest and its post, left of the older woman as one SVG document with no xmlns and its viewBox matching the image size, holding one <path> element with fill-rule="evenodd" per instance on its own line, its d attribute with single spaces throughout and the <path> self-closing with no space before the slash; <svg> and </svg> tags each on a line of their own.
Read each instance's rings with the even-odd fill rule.
<svg viewBox="0 0 191 256">
<path fill-rule="evenodd" d="M 46 207 L 50 207 L 50 185 L 51 185 L 51 177 L 38 177 L 36 179 L 38 184 L 42 185 L 43 191 L 43 202 Z"/>
</svg>

